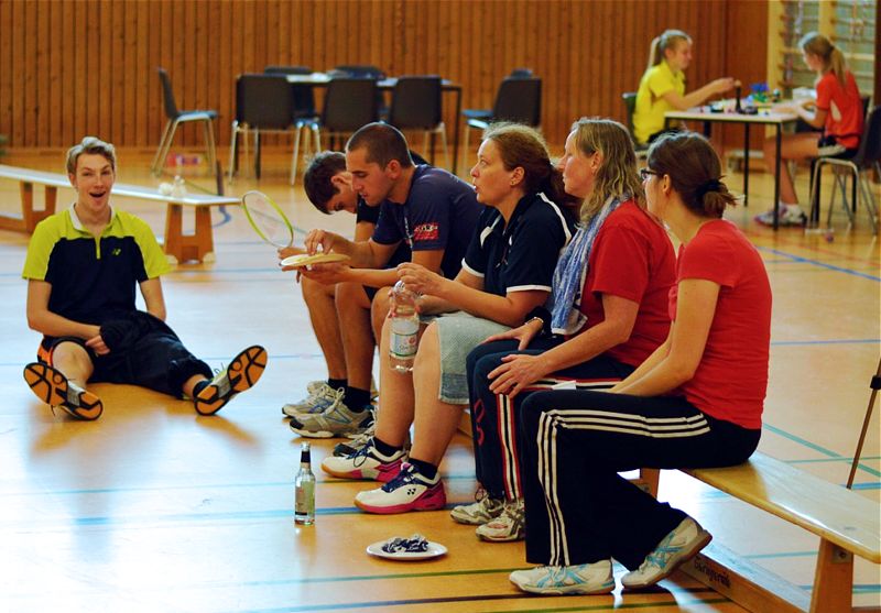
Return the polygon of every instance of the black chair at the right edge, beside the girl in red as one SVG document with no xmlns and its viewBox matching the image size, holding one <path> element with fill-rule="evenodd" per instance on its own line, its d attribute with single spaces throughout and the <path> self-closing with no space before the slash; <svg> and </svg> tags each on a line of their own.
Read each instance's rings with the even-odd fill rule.
<svg viewBox="0 0 881 613">
<path fill-rule="evenodd" d="M 833 198 L 829 202 L 829 211 L 826 216 L 826 226 L 828 227 L 833 218 L 833 208 L 835 207 L 835 189 L 841 194 L 841 206 L 847 212 L 848 220 L 853 223 L 853 214 L 857 210 L 859 198 L 857 197 L 857 186 L 859 186 L 859 195 L 862 196 L 862 201 L 866 210 L 869 212 L 869 218 L 872 221 L 872 233 L 878 233 L 878 205 L 874 201 L 872 194 L 872 186 L 869 184 L 867 174 L 869 171 L 874 169 L 875 173 L 881 174 L 881 106 L 875 106 L 869 111 L 866 118 L 866 127 L 862 131 L 860 145 L 856 155 L 850 160 L 844 160 L 840 156 L 819 156 L 812 164 L 811 176 L 811 223 L 816 225 L 819 221 L 819 200 L 820 200 L 820 174 L 824 166 L 833 166 L 836 171 L 840 169 L 850 175 L 852 179 L 850 188 L 850 205 L 848 206 L 847 195 L 845 190 L 845 178 L 836 173 L 836 185 L 833 187 Z"/>
</svg>

